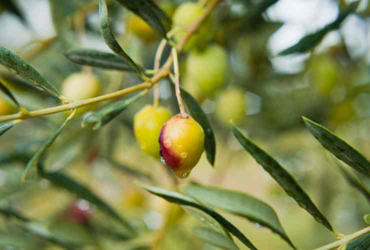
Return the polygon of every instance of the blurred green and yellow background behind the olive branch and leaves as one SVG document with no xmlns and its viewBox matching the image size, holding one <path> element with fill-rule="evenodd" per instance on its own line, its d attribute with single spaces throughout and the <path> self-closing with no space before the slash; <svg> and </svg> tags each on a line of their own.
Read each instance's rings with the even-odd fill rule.
<svg viewBox="0 0 370 250">
<path fill-rule="evenodd" d="M 120 44 L 136 62 L 152 68 L 159 37 L 137 19 L 132 21 L 133 14 L 128 10 L 110 2 L 109 13 Z M 183 1 L 157 2 L 170 15 Z M 178 183 L 181 187 L 195 180 L 258 197 L 275 209 L 296 246 L 312 249 L 333 241 L 334 236 L 297 206 L 241 148 L 231 134 L 229 115 L 236 112 L 237 123 L 245 134 L 294 176 L 337 231 L 351 233 L 363 228 L 362 216 L 369 211 L 368 202 L 345 181 L 338 170 L 340 163 L 312 137 L 301 116 L 327 126 L 370 156 L 370 6 L 367 0 L 361 0 L 357 11 L 325 35 L 312 52 L 278 56 L 303 35 L 333 21 L 350 1 L 279 0 L 263 12 L 258 25 L 255 21 L 240 27 L 248 11 L 245 2 L 249 1 L 224 0 L 214 11 L 215 28 L 210 31 L 212 38 L 207 45 L 218 44 L 227 52 L 228 73 L 222 86 L 206 95 L 199 92 L 191 75 L 186 74 L 187 53 L 180 56 L 181 84 L 198 98 L 208 114 L 217 152 L 214 168 L 203 155 L 190 177 Z M 26 59 L 57 88 L 65 77 L 81 71 L 79 65 L 64 57 L 65 51 L 79 47 L 109 51 L 99 34 L 95 0 L 1 0 L 0 27 L 0 45 Z M 140 82 L 137 76 L 125 72 L 92 71 L 105 93 Z M 0 77 L 29 110 L 58 103 L 3 67 Z M 161 80 L 159 90 L 161 104 L 177 113 L 171 83 Z M 134 181 L 149 181 L 151 176 L 156 185 L 167 187 L 171 183 L 163 165 L 139 149 L 132 131 L 133 115 L 151 102 L 150 92 L 96 131 L 80 128 L 81 117 L 75 118 L 46 158 L 49 170 L 63 169 L 90 187 L 145 231 L 147 238 L 163 224 L 166 202 L 141 190 Z M 20 182 L 24 162 L 11 160 L 12 155 L 34 151 L 65 117 L 59 113 L 29 119 L 1 136 L 1 206 L 17 209 L 61 238 L 83 243 L 84 249 L 134 249 L 130 247 L 145 244 L 145 236 L 141 237 L 142 242 L 114 237 L 105 229 L 113 228 L 124 235 L 115 221 L 35 174 L 31 181 Z M 362 181 L 370 188 L 366 179 Z M 173 219 L 162 248 L 213 249 L 191 233 L 191 226 L 200 223 L 196 216 L 179 214 Z M 259 249 L 289 248 L 279 236 L 259 224 L 222 214 Z M 246 249 L 235 241 L 240 249 Z M 0 216 L 1 249 L 58 247 Z"/>
</svg>

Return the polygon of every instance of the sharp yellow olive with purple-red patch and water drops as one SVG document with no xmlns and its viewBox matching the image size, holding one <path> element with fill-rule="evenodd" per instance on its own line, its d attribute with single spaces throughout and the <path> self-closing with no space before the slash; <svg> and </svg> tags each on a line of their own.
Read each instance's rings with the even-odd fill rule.
<svg viewBox="0 0 370 250">
<path fill-rule="evenodd" d="M 204 150 L 204 131 L 192 117 L 176 114 L 164 123 L 160 155 L 179 178 L 189 176 Z"/>
</svg>

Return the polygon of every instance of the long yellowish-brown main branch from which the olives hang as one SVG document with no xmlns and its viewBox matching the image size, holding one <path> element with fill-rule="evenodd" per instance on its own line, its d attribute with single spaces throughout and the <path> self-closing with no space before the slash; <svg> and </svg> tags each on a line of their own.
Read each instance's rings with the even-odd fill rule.
<svg viewBox="0 0 370 250">
<path fill-rule="evenodd" d="M 185 33 L 184 37 L 177 43 L 177 45 L 176 45 L 176 50 L 177 51 L 181 51 L 183 49 L 186 42 L 189 40 L 190 36 L 198 29 L 200 24 L 207 18 L 207 16 L 210 14 L 212 9 L 220 1 L 221 0 L 212 0 L 212 1 L 210 1 L 210 3 L 204 8 L 204 13 L 199 17 L 198 20 L 196 20 L 186 30 L 186 33 Z M 38 110 L 34 110 L 34 111 L 29 111 L 27 116 L 24 116 L 24 114 L 22 114 L 20 112 L 15 113 L 15 114 L 0 115 L 0 122 L 7 121 L 7 120 L 14 120 L 14 119 L 26 119 L 26 118 L 32 118 L 32 117 L 37 117 L 37 116 L 42 116 L 42 115 L 47 115 L 47 114 L 52 114 L 52 113 L 58 113 L 58 112 L 66 111 L 66 110 L 73 109 L 73 108 L 87 106 L 87 105 L 94 104 L 94 103 L 101 102 L 101 101 L 105 101 L 105 100 L 116 99 L 116 98 L 121 97 L 125 94 L 132 93 L 132 92 L 142 90 L 142 89 L 145 89 L 145 88 L 150 89 L 153 86 L 154 83 L 158 82 L 161 78 L 167 77 L 169 75 L 169 69 L 170 69 L 170 67 L 172 65 L 172 62 L 173 62 L 172 57 L 173 56 L 168 56 L 166 62 L 161 67 L 161 69 L 157 73 L 155 73 L 155 75 L 153 77 L 150 78 L 150 82 L 143 81 L 143 82 L 141 82 L 137 85 L 134 85 L 132 87 L 124 88 L 124 89 L 121 89 L 121 90 L 118 90 L 118 91 L 115 91 L 115 92 L 112 92 L 112 93 L 100 95 L 100 96 L 85 99 L 85 100 L 74 101 L 74 102 L 69 102 L 68 99 L 61 96 L 61 99 L 64 103 L 62 105 L 43 108 L 43 109 L 38 109 Z"/>
</svg>

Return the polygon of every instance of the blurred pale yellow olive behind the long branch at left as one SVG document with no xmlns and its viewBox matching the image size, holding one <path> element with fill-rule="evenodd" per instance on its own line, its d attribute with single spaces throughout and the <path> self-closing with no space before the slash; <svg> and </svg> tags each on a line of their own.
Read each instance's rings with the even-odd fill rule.
<svg viewBox="0 0 370 250">
<path fill-rule="evenodd" d="M 96 97 L 101 93 L 98 78 L 90 72 L 73 73 L 65 78 L 61 87 L 61 94 L 72 101 Z M 94 109 L 95 105 L 83 106 L 77 109 L 76 114 L 82 114 Z M 70 111 L 66 112 L 67 114 Z"/>
</svg>

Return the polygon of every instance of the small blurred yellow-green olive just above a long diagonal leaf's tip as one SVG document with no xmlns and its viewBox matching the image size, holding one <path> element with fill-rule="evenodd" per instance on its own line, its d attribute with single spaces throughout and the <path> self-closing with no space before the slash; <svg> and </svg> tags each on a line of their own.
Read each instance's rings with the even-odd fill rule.
<svg viewBox="0 0 370 250">
<path fill-rule="evenodd" d="M 230 126 L 231 120 L 239 124 L 245 117 L 245 106 L 245 96 L 241 89 L 225 89 L 216 100 L 216 117 L 225 126 Z"/>
</svg>

